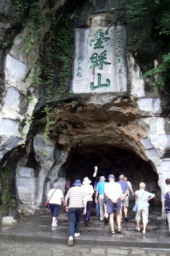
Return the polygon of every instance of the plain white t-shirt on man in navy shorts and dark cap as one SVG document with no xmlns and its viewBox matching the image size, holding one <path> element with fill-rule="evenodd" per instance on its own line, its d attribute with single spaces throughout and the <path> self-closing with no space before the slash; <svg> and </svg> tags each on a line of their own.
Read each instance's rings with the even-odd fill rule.
<svg viewBox="0 0 170 256">
<path fill-rule="evenodd" d="M 122 187 L 119 183 L 114 181 L 109 181 L 105 184 L 105 194 L 108 194 L 112 199 L 117 200 L 122 195 Z"/>
</svg>

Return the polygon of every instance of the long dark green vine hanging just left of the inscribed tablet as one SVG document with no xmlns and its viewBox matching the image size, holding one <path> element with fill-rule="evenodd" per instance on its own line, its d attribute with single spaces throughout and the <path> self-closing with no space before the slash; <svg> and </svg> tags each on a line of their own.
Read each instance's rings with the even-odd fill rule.
<svg viewBox="0 0 170 256">
<path fill-rule="evenodd" d="M 58 64 L 60 63 L 62 68 L 59 75 L 59 98 L 61 98 L 62 94 L 65 92 L 64 84 L 68 76 L 71 75 L 71 60 L 72 60 L 72 50 L 71 50 L 71 33 L 70 33 L 70 25 L 68 22 L 65 23 L 65 26 L 59 29 L 57 35 L 55 36 L 52 31 L 49 31 L 49 35 L 51 36 L 51 47 L 48 52 L 48 68 L 45 70 L 45 74 L 48 77 L 48 80 L 45 82 L 45 91 L 46 91 L 46 105 L 44 111 L 46 113 L 46 123 L 45 123 L 45 145 L 47 145 L 47 141 L 50 135 L 50 126 L 54 125 L 55 121 L 51 121 L 49 119 L 49 114 L 51 112 L 50 102 L 52 96 L 52 86 L 54 82 L 54 61 L 57 60 Z M 71 92 L 70 94 L 72 94 Z M 77 105 L 77 102 L 72 102 L 72 108 Z M 59 104 L 56 111 L 56 118 L 59 116 Z M 46 147 L 43 152 L 45 157 L 49 157 L 48 148 Z"/>
</svg>

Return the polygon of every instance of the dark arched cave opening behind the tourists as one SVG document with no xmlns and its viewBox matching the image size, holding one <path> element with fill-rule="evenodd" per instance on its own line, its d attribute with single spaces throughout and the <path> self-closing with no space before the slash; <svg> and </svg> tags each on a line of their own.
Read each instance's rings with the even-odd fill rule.
<svg viewBox="0 0 170 256">
<path fill-rule="evenodd" d="M 94 185 L 94 166 L 97 166 L 96 176 L 105 176 L 106 180 L 110 174 L 115 176 L 115 181 L 119 181 L 119 175 L 127 175 L 134 192 L 139 189 L 139 183 L 144 182 L 146 190 L 156 194 L 154 204 L 161 206 L 159 176 L 150 163 L 135 152 L 108 145 L 83 145 L 74 148 L 69 159 L 66 176 L 71 178 L 71 183 L 87 176 L 92 180 L 91 185 Z M 129 199 L 134 201 L 132 196 Z"/>
</svg>

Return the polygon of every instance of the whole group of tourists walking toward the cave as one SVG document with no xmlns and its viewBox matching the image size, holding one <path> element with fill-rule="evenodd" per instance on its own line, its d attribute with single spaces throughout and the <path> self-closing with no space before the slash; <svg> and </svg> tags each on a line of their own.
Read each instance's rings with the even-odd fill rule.
<svg viewBox="0 0 170 256">
<path fill-rule="evenodd" d="M 116 215 L 117 232 L 121 232 L 122 210 L 125 213 L 125 221 L 128 221 L 127 207 L 129 205 L 129 191 L 132 195 L 135 195 L 136 201 L 133 211 L 136 212 L 136 230 L 140 231 L 140 219 L 142 215 L 143 230 L 142 233 L 146 233 L 146 226 L 148 223 L 148 209 L 151 199 L 155 197 L 153 193 L 145 190 L 145 184 L 139 183 L 139 190 L 133 192 L 130 182 L 124 175 L 119 176 L 119 181 L 115 182 L 114 175 L 109 175 L 109 182 L 105 181 L 105 177 L 101 176 L 94 183 L 94 187 L 91 185 L 91 180 L 85 177 L 83 182 L 81 180 L 75 180 L 71 187 L 70 178 L 67 179 L 65 185 L 65 199 L 62 191 L 57 188 L 57 182 L 53 183 L 53 189 L 48 192 L 48 198 L 45 206 L 48 204 L 52 214 L 52 227 L 57 227 L 57 214 L 61 202 L 65 206 L 66 212 L 68 212 L 68 245 L 73 245 L 74 237 L 80 236 L 79 227 L 81 216 L 83 214 L 83 220 L 85 226 L 88 226 L 90 221 L 93 194 L 95 193 L 96 203 L 96 216 L 99 217 L 101 222 L 109 223 L 111 226 L 111 234 L 115 234 L 114 228 L 114 214 Z M 170 228 L 170 179 L 165 180 L 167 186 L 164 189 L 164 203 L 165 212 L 167 213 L 167 224 Z"/>
</svg>

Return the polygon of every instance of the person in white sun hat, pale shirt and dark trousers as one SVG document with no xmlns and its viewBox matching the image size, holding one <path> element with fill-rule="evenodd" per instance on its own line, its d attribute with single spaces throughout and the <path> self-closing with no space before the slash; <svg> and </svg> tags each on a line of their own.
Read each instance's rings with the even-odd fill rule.
<svg viewBox="0 0 170 256">
<path fill-rule="evenodd" d="M 85 177 L 83 182 L 82 182 L 83 185 L 81 186 L 81 188 L 85 192 L 85 196 L 86 196 L 86 199 L 87 199 L 86 214 L 83 215 L 85 226 L 88 226 L 88 221 L 90 220 L 91 210 L 92 210 L 92 202 L 93 202 L 92 195 L 94 193 L 94 189 L 93 189 L 93 186 L 90 185 L 90 183 L 91 183 L 91 180 L 89 180 L 88 177 Z"/>
</svg>

